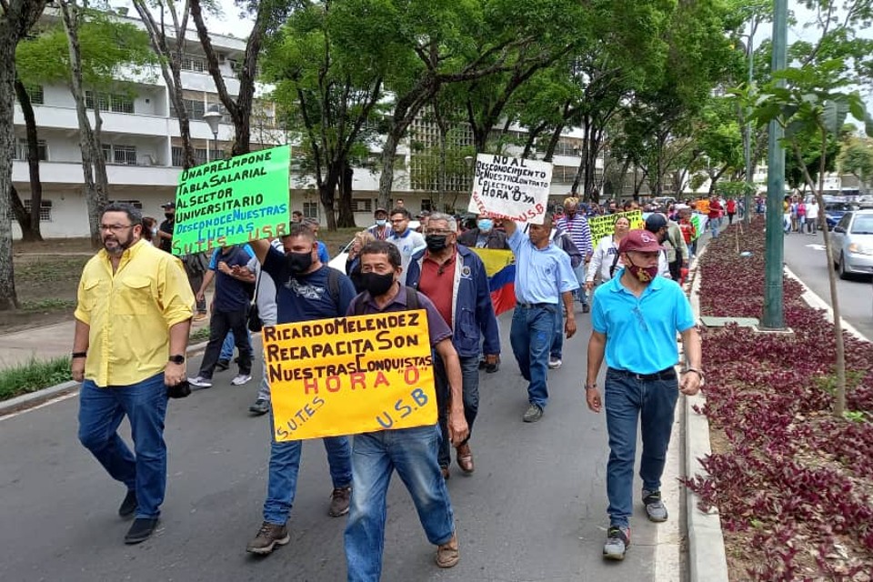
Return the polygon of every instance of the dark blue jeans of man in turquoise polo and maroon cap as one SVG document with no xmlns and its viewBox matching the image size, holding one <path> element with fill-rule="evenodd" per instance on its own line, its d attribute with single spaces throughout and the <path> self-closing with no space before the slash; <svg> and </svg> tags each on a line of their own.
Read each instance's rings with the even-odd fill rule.
<svg viewBox="0 0 873 582">
<path fill-rule="evenodd" d="M 679 396 L 677 379 L 637 380 L 607 369 L 604 383 L 604 407 L 607 411 L 609 461 L 607 463 L 607 497 L 609 523 L 628 527 L 634 512 L 634 460 L 637 456 L 637 418 L 642 422 L 643 455 L 639 477 L 647 491 L 659 491 L 673 412 Z"/>
</svg>

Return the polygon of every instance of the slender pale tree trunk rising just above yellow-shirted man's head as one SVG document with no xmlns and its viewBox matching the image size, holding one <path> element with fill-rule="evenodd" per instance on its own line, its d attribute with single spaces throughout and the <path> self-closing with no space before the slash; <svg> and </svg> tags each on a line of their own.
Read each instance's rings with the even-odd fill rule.
<svg viewBox="0 0 873 582">
<path fill-rule="evenodd" d="M 94 177 L 94 132 L 85 109 L 85 91 L 82 88 L 82 64 L 77 33 L 78 8 L 74 3 L 58 2 L 70 53 L 70 90 L 75 101 L 75 113 L 79 121 L 79 147 L 82 150 L 82 175 L 84 178 L 85 202 L 88 208 L 88 224 L 91 231 L 91 246 L 102 244 L 100 233 L 100 213 L 106 206 L 105 192 L 95 185 Z M 99 95 L 94 95 L 95 111 L 100 108 Z M 102 157 L 102 152 L 100 153 Z M 104 166 L 105 170 L 105 166 Z"/>
</svg>

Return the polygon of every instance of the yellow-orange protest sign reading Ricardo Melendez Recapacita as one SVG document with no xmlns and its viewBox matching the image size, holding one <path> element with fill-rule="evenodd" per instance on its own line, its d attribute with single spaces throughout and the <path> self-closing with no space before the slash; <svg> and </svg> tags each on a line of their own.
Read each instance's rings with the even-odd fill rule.
<svg viewBox="0 0 873 582">
<path fill-rule="evenodd" d="M 424 309 L 266 326 L 276 441 L 437 423 Z"/>
</svg>

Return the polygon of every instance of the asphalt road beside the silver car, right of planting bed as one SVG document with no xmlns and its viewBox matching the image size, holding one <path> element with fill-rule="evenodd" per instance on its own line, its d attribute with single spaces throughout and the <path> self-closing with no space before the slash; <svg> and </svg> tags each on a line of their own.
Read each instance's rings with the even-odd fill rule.
<svg viewBox="0 0 873 582">
<path fill-rule="evenodd" d="M 785 237 L 785 263 L 829 306 L 828 260 L 825 241 L 818 235 L 792 233 Z M 869 276 L 837 279 L 839 307 L 843 319 L 873 340 L 873 288 Z"/>
</svg>

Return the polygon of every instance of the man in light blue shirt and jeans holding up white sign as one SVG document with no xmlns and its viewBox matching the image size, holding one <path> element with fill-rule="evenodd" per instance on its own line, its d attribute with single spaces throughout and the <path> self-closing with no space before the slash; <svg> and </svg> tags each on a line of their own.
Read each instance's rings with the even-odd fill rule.
<svg viewBox="0 0 873 582">
<path fill-rule="evenodd" d="M 528 236 L 516 224 L 505 220 L 507 243 L 516 256 L 516 310 L 512 315 L 509 340 L 527 386 L 527 411 L 522 419 L 537 422 L 548 400 L 546 385 L 548 352 L 561 303 L 567 310 L 564 330 L 567 338 L 576 333 L 573 291 L 579 286 L 570 257 L 551 241 L 552 219 L 530 225 Z"/>
</svg>

